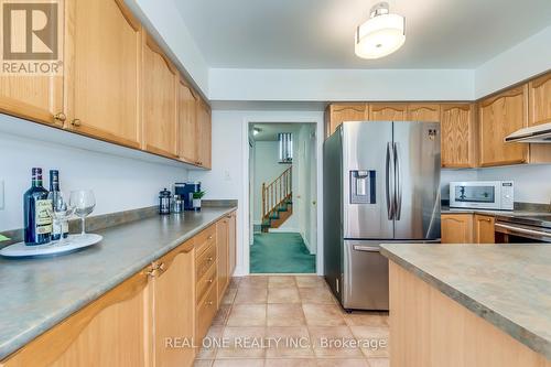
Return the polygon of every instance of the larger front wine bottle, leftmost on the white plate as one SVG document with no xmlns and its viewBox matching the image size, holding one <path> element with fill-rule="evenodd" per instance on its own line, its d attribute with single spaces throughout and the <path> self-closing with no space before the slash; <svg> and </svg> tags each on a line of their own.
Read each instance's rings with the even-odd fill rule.
<svg viewBox="0 0 551 367">
<path fill-rule="evenodd" d="M 32 185 L 23 195 L 25 244 L 29 246 L 50 242 L 52 235 L 52 201 L 42 186 L 42 169 L 32 169 Z"/>
</svg>

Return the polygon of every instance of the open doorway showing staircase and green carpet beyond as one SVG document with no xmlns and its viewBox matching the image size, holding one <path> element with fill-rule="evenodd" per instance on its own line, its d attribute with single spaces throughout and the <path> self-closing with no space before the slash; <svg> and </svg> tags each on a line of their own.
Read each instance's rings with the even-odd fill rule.
<svg viewBox="0 0 551 367">
<path fill-rule="evenodd" d="M 316 125 L 248 128 L 250 273 L 315 273 Z"/>
</svg>

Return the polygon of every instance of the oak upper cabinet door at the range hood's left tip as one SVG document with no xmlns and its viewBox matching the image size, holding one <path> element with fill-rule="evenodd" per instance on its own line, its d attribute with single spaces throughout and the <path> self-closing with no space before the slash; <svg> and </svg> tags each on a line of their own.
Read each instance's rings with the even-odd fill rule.
<svg viewBox="0 0 551 367">
<path fill-rule="evenodd" d="M 528 126 L 528 85 L 480 101 L 480 165 L 526 163 L 528 144 L 505 143 L 509 133 Z"/>
</svg>

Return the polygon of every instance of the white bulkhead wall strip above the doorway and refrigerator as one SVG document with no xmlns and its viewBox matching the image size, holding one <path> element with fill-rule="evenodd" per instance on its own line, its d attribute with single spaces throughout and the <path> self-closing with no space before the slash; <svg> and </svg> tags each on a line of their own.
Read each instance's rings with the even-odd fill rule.
<svg viewBox="0 0 551 367">
<path fill-rule="evenodd" d="M 210 68 L 213 100 L 472 100 L 474 71 Z"/>
</svg>

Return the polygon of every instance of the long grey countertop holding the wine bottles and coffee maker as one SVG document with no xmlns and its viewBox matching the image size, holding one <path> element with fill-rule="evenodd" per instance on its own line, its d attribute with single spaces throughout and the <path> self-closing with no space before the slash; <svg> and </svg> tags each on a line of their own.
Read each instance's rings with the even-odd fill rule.
<svg viewBox="0 0 551 367">
<path fill-rule="evenodd" d="M 0 359 L 235 209 L 204 207 L 97 230 L 101 242 L 66 256 L 0 258 Z"/>
</svg>

